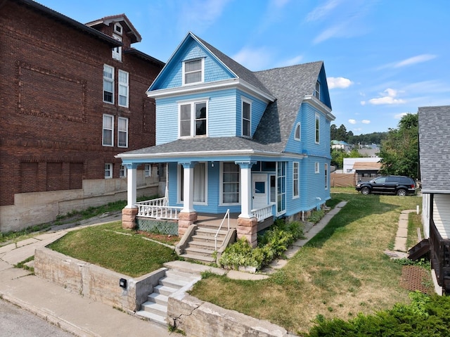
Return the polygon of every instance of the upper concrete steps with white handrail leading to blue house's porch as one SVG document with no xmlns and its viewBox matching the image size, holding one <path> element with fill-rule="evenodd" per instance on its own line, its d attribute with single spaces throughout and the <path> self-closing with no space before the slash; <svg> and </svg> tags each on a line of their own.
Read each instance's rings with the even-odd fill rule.
<svg viewBox="0 0 450 337">
<path fill-rule="evenodd" d="M 219 227 L 207 224 L 198 224 L 197 229 L 191 241 L 188 242 L 186 248 L 184 248 L 184 253 L 181 257 L 186 260 L 195 260 L 205 264 L 215 263 L 213 254 L 215 250 L 214 236 L 217 234 Z M 228 231 L 221 229 L 217 235 L 217 249 L 222 246 L 224 239 L 228 234 Z"/>
</svg>

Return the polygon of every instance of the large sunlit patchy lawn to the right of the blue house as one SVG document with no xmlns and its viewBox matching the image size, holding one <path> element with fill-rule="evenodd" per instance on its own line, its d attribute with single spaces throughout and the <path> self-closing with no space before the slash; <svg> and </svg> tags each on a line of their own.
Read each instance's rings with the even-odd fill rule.
<svg viewBox="0 0 450 337">
<path fill-rule="evenodd" d="M 348 201 L 345 208 L 269 279 L 211 275 L 191 294 L 293 333 L 309 331 L 316 320 L 349 319 L 408 303 L 409 292 L 399 285 L 402 266 L 384 251 L 393 247 L 401 210 L 415 210 L 421 198 L 338 192 L 333 203 Z"/>
</svg>

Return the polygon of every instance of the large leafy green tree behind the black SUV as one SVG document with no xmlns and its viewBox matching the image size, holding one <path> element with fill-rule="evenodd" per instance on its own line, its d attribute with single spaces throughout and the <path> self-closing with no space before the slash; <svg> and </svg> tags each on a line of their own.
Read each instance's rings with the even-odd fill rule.
<svg viewBox="0 0 450 337">
<path fill-rule="evenodd" d="M 408 113 L 401 118 L 397 129 L 389 129 L 381 142 L 381 174 L 418 177 L 418 114 Z"/>
</svg>

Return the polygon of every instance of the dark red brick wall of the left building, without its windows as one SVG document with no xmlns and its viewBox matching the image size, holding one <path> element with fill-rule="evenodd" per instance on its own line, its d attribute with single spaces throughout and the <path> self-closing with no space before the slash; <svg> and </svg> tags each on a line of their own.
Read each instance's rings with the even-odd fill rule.
<svg viewBox="0 0 450 337">
<path fill-rule="evenodd" d="M 92 34 L 15 1 L 0 6 L 0 205 L 15 193 L 81 189 L 103 179 L 105 163 L 118 178 L 117 153 L 155 144 L 146 89 L 162 65 L 116 61 Z M 115 104 L 103 103 L 103 64 L 115 68 Z M 129 108 L 117 105 L 119 69 L 129 72 Z M 115 117 L 115 146 L 102 146 L 104 113 Z M 127 148 L 117 147 L 118 117 L 129 119 Z"/>
</svg>

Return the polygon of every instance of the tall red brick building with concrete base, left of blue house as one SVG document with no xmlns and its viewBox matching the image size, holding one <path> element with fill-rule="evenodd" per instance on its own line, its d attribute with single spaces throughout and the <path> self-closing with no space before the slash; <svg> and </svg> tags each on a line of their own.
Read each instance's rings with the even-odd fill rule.
<svg viewBox="0 0 450 337">
<path fill-rule="evenodd" d="M 1 232 L 126 199 L 115 155 L 155 145 L 146 89 L 164 66 L 131 46 L 140 41 L 124 14 L 84 25 L 0 1 Z M 155 167 L 139 172 L 139 193 L 158 193 Z"/>
</svg>

